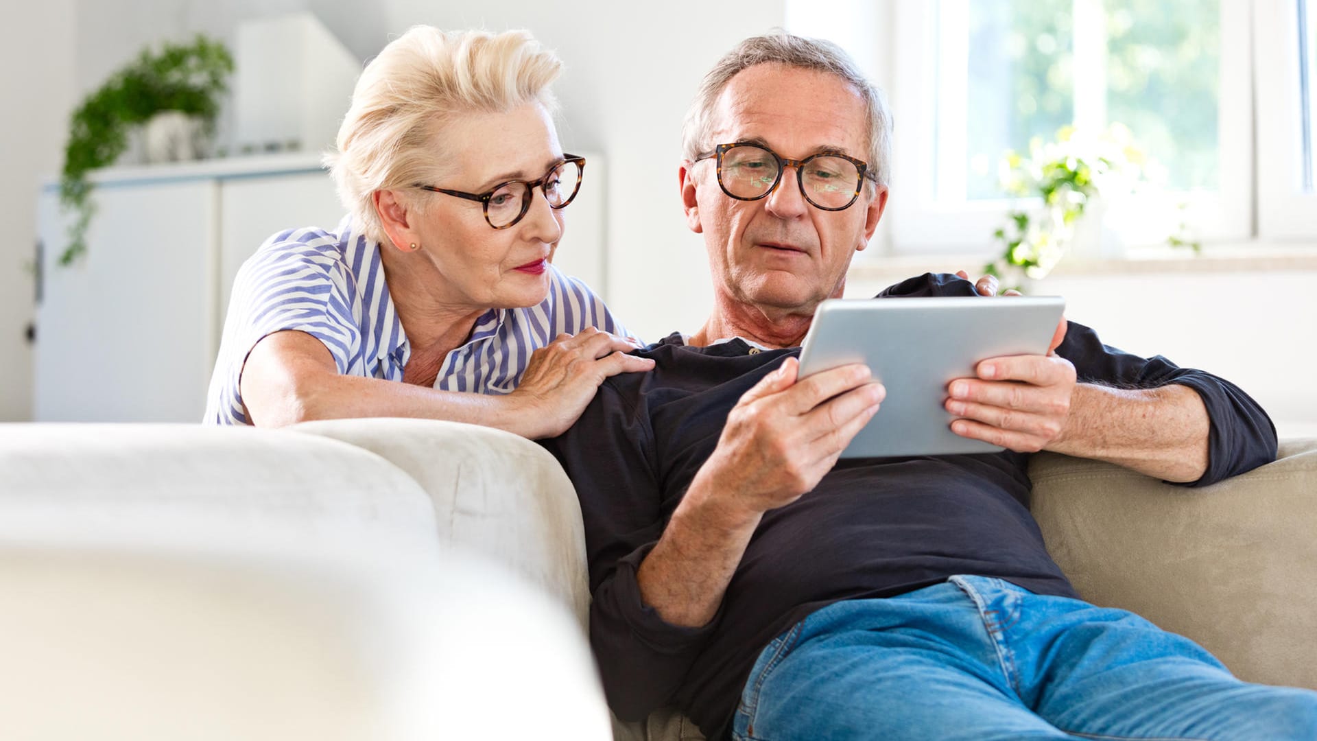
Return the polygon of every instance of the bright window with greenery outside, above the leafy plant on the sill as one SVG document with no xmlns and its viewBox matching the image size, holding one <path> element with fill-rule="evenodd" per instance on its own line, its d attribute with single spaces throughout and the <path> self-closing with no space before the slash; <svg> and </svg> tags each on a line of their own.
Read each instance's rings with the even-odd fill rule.
<svg viewBox="0 0 1317 741">
<path fill-rule="evenodd" d="M 1010 207 L 1005 152 L 1067 124 L 1123 124 L 1164 190 L 1144 208 L 1184 206 L 1198 236 L 1249 239 L 1250 13 L 1241 0 L 894 3 L 892 249 L 990 249 Z"/>
</svg>

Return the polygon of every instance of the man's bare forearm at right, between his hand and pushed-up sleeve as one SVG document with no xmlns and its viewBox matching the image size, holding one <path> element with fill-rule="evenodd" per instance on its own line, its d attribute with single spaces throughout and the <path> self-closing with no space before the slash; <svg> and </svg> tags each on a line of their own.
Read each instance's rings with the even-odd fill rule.
<svg viewBox="0 0 1317 741">
<path fill-rule="evenodd" d="M 1208 469 L 1208 409 L 1188 386 L 1114 389 L 1079 384 L 1062 435 L 1047 450 L 1115 463 L 1167 481 Z"/>
</svg>

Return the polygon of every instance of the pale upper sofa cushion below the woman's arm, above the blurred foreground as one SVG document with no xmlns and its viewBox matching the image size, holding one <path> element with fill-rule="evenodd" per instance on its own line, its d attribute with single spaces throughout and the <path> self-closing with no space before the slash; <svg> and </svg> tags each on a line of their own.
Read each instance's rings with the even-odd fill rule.
<svg viewBox="0 0 1317 741">
<path fill-rule="evenodd" d="M 0 425 L 0 537 L 187 542 L 194 527 L 208 539 L 370 531 L 436 545 L 416 481 L 336 440 L 200 425 Z"/>
</svg>

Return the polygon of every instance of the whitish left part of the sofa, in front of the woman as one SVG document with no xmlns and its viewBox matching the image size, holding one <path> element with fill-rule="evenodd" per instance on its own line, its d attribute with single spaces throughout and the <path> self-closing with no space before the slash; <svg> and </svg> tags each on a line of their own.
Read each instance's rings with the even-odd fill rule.
<svg viewBox="0 0 1317 741">
<path fill-rule="evenodd" d="M 0 737 L 607 740 L 579 521 L 485 429 L 0 425 Z"/>
</svg>

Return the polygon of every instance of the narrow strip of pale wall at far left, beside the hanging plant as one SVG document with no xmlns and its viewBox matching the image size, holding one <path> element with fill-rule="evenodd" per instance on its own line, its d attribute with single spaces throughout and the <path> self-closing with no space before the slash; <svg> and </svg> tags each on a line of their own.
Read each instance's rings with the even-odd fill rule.
<svg viewBox="0 0 1317 741">
<path fill-rule="evenodd" d="M 0 421 L 32 417 L 37 182 L 63 162 L 74 100 L 74 0 L 0 4 Z M 92 359 L 88 359 L 91 370 Z"/>
</svg>

